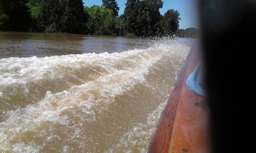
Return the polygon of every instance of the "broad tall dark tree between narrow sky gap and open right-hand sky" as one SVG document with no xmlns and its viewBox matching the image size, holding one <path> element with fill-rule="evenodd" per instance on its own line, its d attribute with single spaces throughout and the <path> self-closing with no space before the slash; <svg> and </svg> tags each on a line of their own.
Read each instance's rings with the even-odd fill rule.
<svg viewBox="0 0 256 153">
<path fill-rule="evenodd" d="M 127 0 L 124 17 L 128 33 L 136 36 L 154 36 L 159 31 L 162 0 Z"/>
</svg>

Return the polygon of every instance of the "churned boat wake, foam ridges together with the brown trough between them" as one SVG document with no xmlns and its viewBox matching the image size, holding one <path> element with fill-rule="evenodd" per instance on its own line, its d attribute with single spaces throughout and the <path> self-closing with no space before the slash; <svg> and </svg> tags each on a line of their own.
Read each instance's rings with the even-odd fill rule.
<svg viewBox="0 0 256 153">
<path fill-rule="evenodd" d="M 1 110 L 0 151 L 38 152 L 58 139 L 62 142 L 56 145 L 65 146 L 63 151 L 69 150 L 74 139 L 84 147 L 86 144 L 82 142 L 87 136 L 84 126 L 95 122 L 99 112 L 108 112 L 107 106 L 114 104 L 116 97 L 130 95 L 135 87 L 148 84 L 147 76 L 156 72 L 152 69 L 157 69 L 163 59 L 178 65 L 175 63 L 183 61 L 189 50 L 189 45 L 178 41 L 156 40 L 151 47 L 120 53 L 0 59 L 0 98 L 6 104 L 6 109 Z M 10 98 L 15 94 L 26 102 L 8 108 L 19 103 L 19 99 Z M 141 141 L 140 135 L 149 139 L 153 131 L 151 135 L 146 131 L 149 124 L 155 124 L 154 117 L 159 116 L 162 104 L 148 114 L 147 123 L 134 124 L 118 145 L 125 148 L 126 142 L 136 144 Z M 34 137 L 29 137 L 31 134 Z M 28 142 L 21 143 L 21 139 Z M 145 151 L 145 143 L 148 142 L 140 144 L 141 152 Z M 129 152 L 129 146 L 124 150 Z"/>
</svg>

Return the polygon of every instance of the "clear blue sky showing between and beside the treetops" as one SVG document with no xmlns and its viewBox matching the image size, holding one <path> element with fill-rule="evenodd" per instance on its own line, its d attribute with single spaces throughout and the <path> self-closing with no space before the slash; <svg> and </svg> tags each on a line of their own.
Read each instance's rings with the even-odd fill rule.
<svg viewBox="0 0 256 153">
<path fill-rule="evenodd" d="M 163 8 L 160 9 L 160 13 L 163 15 L 167 10 L 178 10 L 180 13 L 180 27 L 179 29 L 186 29 L 194 27 L 198 29 L 198 12 L 197 12 L 197 0 L 162 0 Z M 83 0 L 84 6 L 102 5 L 102 0 Z M 119 12 L 123 14 L 125 10 L 125 3 L 127 0 L 116 0 Z"/>
</svg>

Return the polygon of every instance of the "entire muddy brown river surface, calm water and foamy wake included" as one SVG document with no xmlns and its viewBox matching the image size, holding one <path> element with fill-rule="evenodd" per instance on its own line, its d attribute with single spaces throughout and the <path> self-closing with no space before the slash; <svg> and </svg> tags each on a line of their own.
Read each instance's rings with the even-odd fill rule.
<svg viewBox="0 0 256 153">
<path fill-rule="evenodd" d="M 195 41 L 0 32 L 0 152 L 146 153 Z"/>
</svg>

